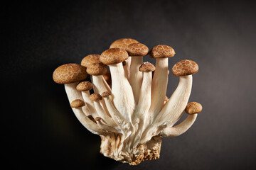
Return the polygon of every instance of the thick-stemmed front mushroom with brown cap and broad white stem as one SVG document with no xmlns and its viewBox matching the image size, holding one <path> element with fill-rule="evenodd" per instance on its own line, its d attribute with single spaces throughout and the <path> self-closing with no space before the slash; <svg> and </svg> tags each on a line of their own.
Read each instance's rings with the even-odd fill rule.
<svg viewBox="0 0 256 170">
<path fill-rule="evenodd" d="M 124 76 L 122 62 L 127 60 L 128 53 L 120 48 L 110 48 L 100 55 L 100 62 L 110 67 L 112 79 L 112 101 L 117 111 L 129 122 L 135 109 L 132 87 Z"/>
</svg>

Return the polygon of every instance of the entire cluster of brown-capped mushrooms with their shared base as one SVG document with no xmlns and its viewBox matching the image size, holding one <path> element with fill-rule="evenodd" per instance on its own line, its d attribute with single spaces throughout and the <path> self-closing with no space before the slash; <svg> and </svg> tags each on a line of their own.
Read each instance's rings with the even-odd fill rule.
<svg viewBox="0 0 256 170">
<path fill-rule="evenodd" d="M 156 66 L 143 62 L 146 55 L 156 59 Z M 137 165 L 158 159 L 162 137 L 183 134 L 202 111 L 200 103 L 188 103 L 192 74 L 198 72 L 198 64 L 191 60 L 174 64 L 171 72 L 179 83 L 171 97 L 166 97 L 168 60 L 174 55 L 168 45 L 149 51 L 137 40 L 122 38 L 101 55 L 87 55 L 80 64 L 61 65 L 53 72 L 53 80 L 65 84 L 80 123 L 100 135 L 100 153 Z M 85 81 L 87 74 L 91 82 Z M 187 118 L 175 125 L 183 112 Z"/>
</svg>

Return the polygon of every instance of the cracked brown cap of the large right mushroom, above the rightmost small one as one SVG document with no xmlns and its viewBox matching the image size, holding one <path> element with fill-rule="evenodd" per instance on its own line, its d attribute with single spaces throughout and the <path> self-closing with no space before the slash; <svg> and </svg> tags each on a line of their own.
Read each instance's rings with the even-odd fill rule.
<svg viewBox="0 0 256 170">
<path fill-rule="evenodd" d="M 198 69 L 199 67 L 196 62 L 193 62 L 192 60 L 181 60 L 180 62 L 174 64 L 171 72 L 174 74 L 174 76 L 180 77 L 195 74 L 198 72 Z"/>
</svg>

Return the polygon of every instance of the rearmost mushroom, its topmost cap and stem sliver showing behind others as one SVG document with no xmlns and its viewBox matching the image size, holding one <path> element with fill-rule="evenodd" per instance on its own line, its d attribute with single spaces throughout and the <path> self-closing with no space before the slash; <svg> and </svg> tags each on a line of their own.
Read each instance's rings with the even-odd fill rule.
<svg viewBox="0 0 256 170">
<path fill-rule="evenodd" d="M 137 40 L 134 40 L 132 38 L 121 38 L 119 40 L 115 40 L 114 42 L 112 42 L 112 44 L 110 45 L 110 48 L 114 48 L 114 47 L 118 47 L 121 48 L 123 50 L 127 50 L 128 45 L 138 42 Z M 125 77 L 127 77 L 127 79 L 129 79 L 129 70 L 130 70 L 130 66 L 131 66 L 131 60 L 132 57 L 128 57 L 127 60 L 124 60 L 124 74 Z"/>
</svg>

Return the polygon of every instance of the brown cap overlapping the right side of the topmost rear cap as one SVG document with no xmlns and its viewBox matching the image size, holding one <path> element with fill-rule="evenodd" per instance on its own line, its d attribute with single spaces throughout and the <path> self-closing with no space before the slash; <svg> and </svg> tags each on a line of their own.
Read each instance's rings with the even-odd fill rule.
<svg viewBox="0 0 256 170">
<path fill-rule="evenodd" d="M 128 45 L 127 52 L 129 56 L 145 56 L 149 53 L 149 48 L 142 43 L 136 42 Z"/>
</svg>

